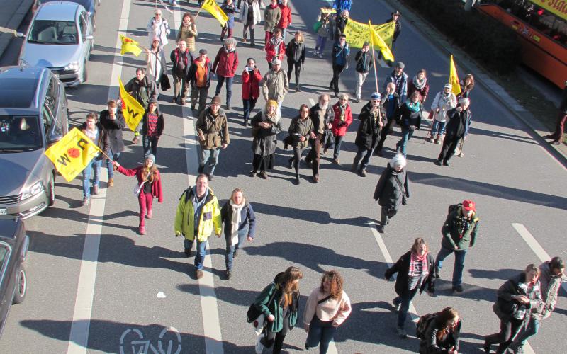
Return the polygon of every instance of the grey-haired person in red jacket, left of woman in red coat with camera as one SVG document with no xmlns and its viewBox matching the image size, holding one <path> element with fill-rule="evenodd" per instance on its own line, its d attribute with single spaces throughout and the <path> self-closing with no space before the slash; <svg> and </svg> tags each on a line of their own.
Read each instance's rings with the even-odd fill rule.
<svg viewBox="0 0 567 354">
<path fill-rule="evenodd" d="M 213 62 L 213 72 L 217 75 L 217 88 L 215 96 L 220 94 L 226 81 L 226 108 L 230 110 L 230 98 L 232 97 L 232 81 L 235 79 L 238 68 L 238 53 L 236 52 L 236 40 L 232 37 L 225 39 L 225 44 L 217 52 Z"/>
</svg>

